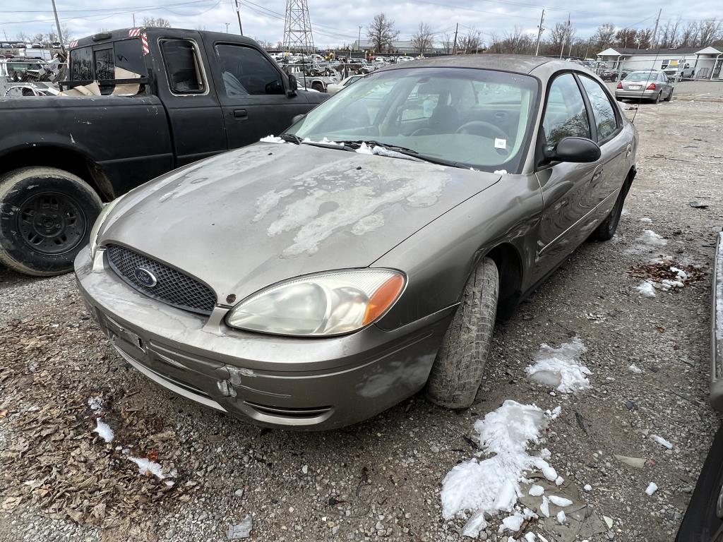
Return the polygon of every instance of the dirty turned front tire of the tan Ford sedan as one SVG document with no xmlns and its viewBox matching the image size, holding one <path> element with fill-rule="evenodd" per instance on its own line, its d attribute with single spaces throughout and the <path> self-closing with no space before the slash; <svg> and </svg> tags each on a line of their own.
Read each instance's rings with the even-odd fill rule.
<svg viewBox="0 0 723 542">
<path fill-rule="evenodd" d="M 465 285 L 461 304 L 432 365 L 425 391 L 432 403 L 467 408 L 474 402 L 492 345 L 499 292 L 497 265 L 484 258 Z"/>
</svg>

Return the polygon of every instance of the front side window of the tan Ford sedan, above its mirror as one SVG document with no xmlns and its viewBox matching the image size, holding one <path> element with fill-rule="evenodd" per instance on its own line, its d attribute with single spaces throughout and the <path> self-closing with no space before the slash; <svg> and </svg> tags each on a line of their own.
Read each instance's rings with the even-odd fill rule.
<svg viewBox="0 0 723 542">
<path fill-rule="evenodd" d="M 550 85 L 542 127 L 546 150 L 554 149 L 563 137 L 590 139 L 585 102 L 573 74 L 560 75 Z"/>
</svg>

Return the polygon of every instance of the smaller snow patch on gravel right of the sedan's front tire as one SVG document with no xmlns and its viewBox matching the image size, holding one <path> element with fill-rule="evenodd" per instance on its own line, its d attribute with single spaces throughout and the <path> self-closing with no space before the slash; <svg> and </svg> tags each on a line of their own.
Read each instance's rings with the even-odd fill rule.
<svg viewBox="0 0 723 542">
<path fill-rule="evenodd" d="M 562 343 L 560 348 L 543 343 L 534 356 L 535 364 L 527 366 L 527 374 L 534 382 L 554 387 L 562 393 L 586 390 L 590 387 L 587 376 L 592 373 L 579 362 L 581 354 L 586 350 L 578 337 L 573 337 L 569 343 Z"/>
</svg>

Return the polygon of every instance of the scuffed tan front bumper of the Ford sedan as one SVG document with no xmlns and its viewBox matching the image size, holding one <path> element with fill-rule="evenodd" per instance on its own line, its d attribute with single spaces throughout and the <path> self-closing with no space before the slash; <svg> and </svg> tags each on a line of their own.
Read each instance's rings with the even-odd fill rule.
<svg viewBox="0 0 723 542">
<path fill-rule="evenodd" d="M 393 331 L 299 338 L 233 330 L 129 288 L 83 249 L 75 260 L 91 316 L 135 369 L 191 400 L 265 426 L 333 429 L 363 421 L 424 387 L 454 308 Z"/>
</svg>

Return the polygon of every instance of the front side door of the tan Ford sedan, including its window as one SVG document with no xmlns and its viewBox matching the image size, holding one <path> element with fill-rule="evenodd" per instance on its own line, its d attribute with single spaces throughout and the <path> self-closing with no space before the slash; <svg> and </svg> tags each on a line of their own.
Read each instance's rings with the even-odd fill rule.
<svg viewBox="0 0 723 542">
<path fill-rule="evenodd" d="M 558 74 L 549 84 L 538 138 L 538 155 L 552 150 L 563 137 L 592 138 L 589 111 L 581 86 L 572 72 Z M 545 162 L 536 176 L 542 189 L 544 210 L 539 225 L 534 282 L 570 254 L 581 238 L 581 221 L 594 208 L 590 186 L 599 182 L 602 165 Z"/>
</svg>

